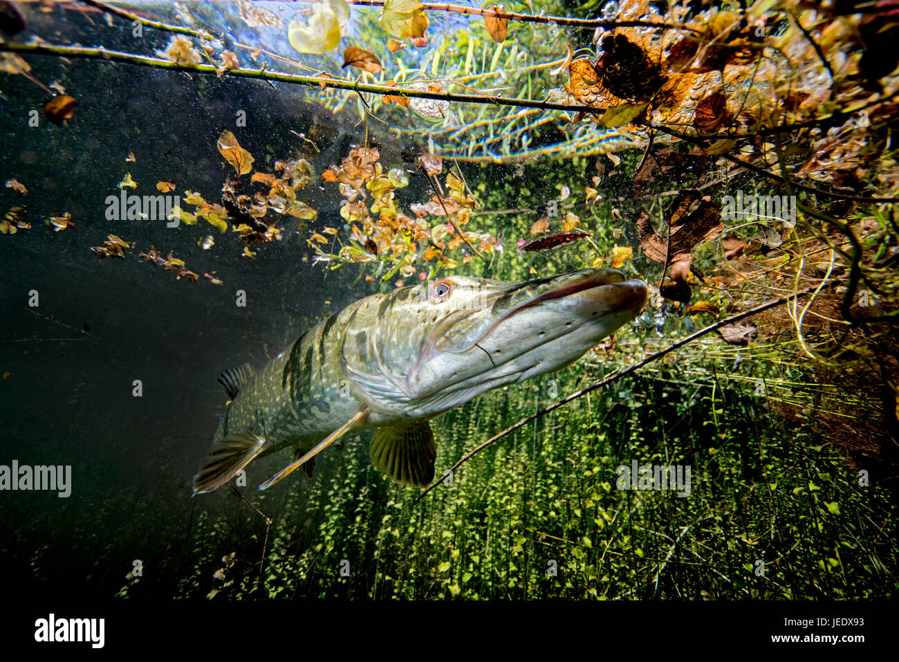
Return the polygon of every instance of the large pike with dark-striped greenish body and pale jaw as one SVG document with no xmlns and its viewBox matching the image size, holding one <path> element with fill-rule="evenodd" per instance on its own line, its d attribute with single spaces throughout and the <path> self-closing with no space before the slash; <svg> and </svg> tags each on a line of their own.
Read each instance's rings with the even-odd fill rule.
<svg viewBox="0 0 899 662">
<path fill-rule="evenodd" d="M 293 450 L 270 488 L 347 433 L 376 428 L 373 465 L 423 488 L 434 477 L 430 421 L 491 389 L 557 371 L 636 318 L 647 288 L 616 269 L 525 282 L 439 278 L 357 300 L 261 370 L 223 372 L 227 409 L 193 478 L 212 492 L 251 461 Z"/>
</svg>

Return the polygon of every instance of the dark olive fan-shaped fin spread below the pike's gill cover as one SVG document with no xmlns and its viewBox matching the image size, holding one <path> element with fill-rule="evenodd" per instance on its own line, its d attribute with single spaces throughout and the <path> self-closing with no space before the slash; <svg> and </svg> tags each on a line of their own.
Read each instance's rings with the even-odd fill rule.
<svg viewBox="0 0 899 662">
<path fill-rule="evenodd" d="M 374 465 L 396 482 L 424 488 L 434 479 L 437 449 L 427 421 L 380 428 L 369 452 Z"/>
</svg>

